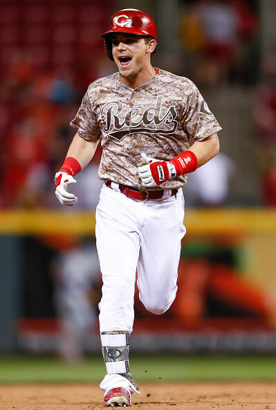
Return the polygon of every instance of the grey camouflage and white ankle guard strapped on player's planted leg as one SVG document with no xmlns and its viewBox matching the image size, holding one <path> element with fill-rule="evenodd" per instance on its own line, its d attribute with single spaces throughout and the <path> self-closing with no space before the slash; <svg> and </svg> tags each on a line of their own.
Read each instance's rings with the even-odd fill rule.
<svg viewBox="0 0 276 410">
<path fill-rule="evenodd" d="M 140 393 L 138 384 L 129 373 L 130 333 L 127 331 L 102 332 L 100 338 L 107 374 L 122 375 L 129 381 L 134 391 Z"/>
</svg>

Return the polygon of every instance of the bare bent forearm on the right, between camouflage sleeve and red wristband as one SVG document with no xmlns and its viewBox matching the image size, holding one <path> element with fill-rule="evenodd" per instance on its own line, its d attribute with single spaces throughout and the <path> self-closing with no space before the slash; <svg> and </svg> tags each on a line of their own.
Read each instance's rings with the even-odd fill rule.
<svg viewBox="0 0 276 410">
<path fill-rule="evenodd" d="M 204 165 L 219 153 L 219 137 L 216 134 L 203 139 L 203 141 L 196 141 L 189 148 L 197 158 L 197 166 Z"/>
</svg>

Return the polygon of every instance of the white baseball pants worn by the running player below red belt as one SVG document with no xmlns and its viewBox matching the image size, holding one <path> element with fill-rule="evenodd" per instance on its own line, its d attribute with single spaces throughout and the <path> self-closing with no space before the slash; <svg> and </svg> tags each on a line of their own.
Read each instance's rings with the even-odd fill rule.
<svg viewBox="0 0 276 410">
<path fill-rule="evenodd" d="M 181 239 L 185 235 L 182 189 L 176 196 L 138 201 L 105 184 L 96 209 L 96 244 L 102 272 L 100 332 L 132 331 L 136 268 L 139 297 L 161 314 L 176 296 Z M 115 387 L 120 375 L 107 375 L 101 388 Z M 123 380 L 123 378 L 122 378 Z M 120 380 L 119 380 L 120 382 Z M 119 383 L 122 387 L 122 383 Z"/>
</svg>

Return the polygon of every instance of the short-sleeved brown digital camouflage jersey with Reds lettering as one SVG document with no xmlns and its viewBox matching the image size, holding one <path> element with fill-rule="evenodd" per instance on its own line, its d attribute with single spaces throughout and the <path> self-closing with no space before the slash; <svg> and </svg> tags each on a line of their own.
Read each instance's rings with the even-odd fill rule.
<svg viewBox="0 0 276 410">
<path fill-rule="evenodd" d="M 142 188 L 141 153 L 168 161 L 221 130 L 194 83 L 164 70 L 137 88 L 124 84 L 119 72 L 94 81 L 71 126 L 87 141 L 101 139 L 100 179 L 134 188 Z M 151 189 L 186 182 L 181 175 Z"/>
</svg>

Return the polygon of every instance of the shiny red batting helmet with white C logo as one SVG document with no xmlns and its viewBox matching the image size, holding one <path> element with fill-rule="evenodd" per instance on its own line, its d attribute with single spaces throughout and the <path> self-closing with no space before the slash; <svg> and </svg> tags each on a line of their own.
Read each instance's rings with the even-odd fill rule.
<svg viewBox="0 0 276 410">
<path fill-rule="evenodd" d="M 149 14 L 135 8 L 124 8 L 113 14 L 109 21 L 109 30 L 102 34 L 105 40 L 107 55 L 114 61 L 110 34 L 113 32 L 129 32 L 143 37 L 151 36 L 156 39 L 156 25 Z"/>
</svg>

